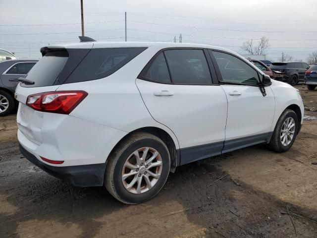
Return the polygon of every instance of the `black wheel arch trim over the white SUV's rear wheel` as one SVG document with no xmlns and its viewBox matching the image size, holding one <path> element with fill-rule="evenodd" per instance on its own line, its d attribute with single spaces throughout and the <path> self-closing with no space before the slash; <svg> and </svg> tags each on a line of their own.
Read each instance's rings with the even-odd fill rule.
<svg viewBox="0 0 317 238">
<path fill-rule="evenodd" d="M 127 137 L 129 137 L 131 134 L 135 133 L 135 132 L 147 132 L 150 133 L 152 135 L 155 135 L 157 137 L 159 137 L 167 146 L 169 155 L 170 155 L 170 172 L 174 173 L 175 169 L 177 166 L 179 166 L 179 162 L 180 162 L 180 155 L 179 155 L 179 150 L 177 150 L 176 148 L 176 144 L 174 142 L 174 140 L 172 139 L 172 137 L 169 135 L 168 132 L 166 132 L 165 130 L 159 128 L 159 127 L 155 127 L 155 126 L 146 126 L 146 127 L 142 127 L 142 128 L 138 128 L 135 129 L 133 131 L 130 131 L 128 134 L 126 134 L 124 137 L 122 137 L 117 143 L 116 145 L 113 147 L 113 149 L 111 150 L 111 152 L 109 153 L 109 156 L 111 155 L 112 151 L 114 151 L 116 149 L 116 147 L 123 141 L 125 140 Z"/>
</svg>

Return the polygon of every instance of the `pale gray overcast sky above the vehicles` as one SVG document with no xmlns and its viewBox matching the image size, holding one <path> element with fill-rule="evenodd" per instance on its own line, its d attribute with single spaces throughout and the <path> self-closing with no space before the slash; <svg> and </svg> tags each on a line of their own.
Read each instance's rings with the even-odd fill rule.
<svg viewBox="0 0 317 238">
<path fill-rule="evenodd" d="M 80 0 L 0 0 L 0 48 L 21 58 L 78 42 Z M 85 35 L 96 40 L 173 41 L 222 46 L 240 54 L 247 39 L 270 39 L 266 58 L 281 52 L 306 60 L 317 51 L 316 0 L 84 0 Z"/>
</svg>

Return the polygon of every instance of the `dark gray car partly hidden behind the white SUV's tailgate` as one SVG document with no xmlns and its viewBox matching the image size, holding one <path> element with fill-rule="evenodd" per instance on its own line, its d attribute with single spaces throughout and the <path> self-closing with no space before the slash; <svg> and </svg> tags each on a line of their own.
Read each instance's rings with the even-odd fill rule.
<svg viewBox="0 0 317 238">
<path fill-rule="evenodd" d="M 25 77 L 38 60 L 5 60 L 0 62 L 0 117 L 8 115 L 17 105 L 14 92 L 18 82 L 12 79 Z"/>
</svg>

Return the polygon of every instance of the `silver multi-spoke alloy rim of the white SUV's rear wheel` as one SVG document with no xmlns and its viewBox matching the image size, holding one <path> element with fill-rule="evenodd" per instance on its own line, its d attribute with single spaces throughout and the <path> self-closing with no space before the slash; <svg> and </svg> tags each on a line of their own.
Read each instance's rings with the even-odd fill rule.
<svg viewBox="0 0 317 238">
<path fill-rule="evenodd" d="M 125 161 L 121 180 L 126 190 L 134 194 L 149 191 L 158 182 L 162 172 L 162 158 L 151 147 L 134 151 Z"/>
</svg>

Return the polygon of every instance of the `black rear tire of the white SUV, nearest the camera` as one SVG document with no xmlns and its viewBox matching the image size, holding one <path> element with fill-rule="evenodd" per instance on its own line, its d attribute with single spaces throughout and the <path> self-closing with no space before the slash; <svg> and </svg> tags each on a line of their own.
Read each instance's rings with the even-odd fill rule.
<svg viewBox="0 0 317 238">
<path fill-rule="evenodd" d="M 146 148 L 149 148 L 148 152 L 146 152 Z M 140 166 L 142 160 L 139 161 L 138 165 L 136 156 L 133 154 L 137 150 L 139 150 L 137 154 L 139 154 L 140 158 L 142 158 L 144 153 L 147 153 L 146 160 L 143 160 L 143 166 Z M 154 157 L 155 151 L 159 155 L 150 164 L 149 158 Z M 130 162 L 129 166 L 126 166 L 127 161 Z M 159 161 L 161 166 L 150 169 L 151 165 L 158 164 Z M 149 163 L 148 169 L 145 168 L 147 162 Z M 133 170 L 129 168 L 131 164 L 133 165 Z M 170 156 L 164 142 L 150 133 L 135 132 L 120 142 L 111 152 L 107 162 L 104 184 L 108 192 L 117 200 L 126 204 L 142 203 L 153 198 L 161 190 L 168 177 L 169 169 Z M 135 174 L 123 179 L 123 176 L 129 173 Z M 160 174 L 160 176 L 155 179 L 151 176 L 151 173 Z M 152 179 L 151 183 L 148 183 L 146 178 Z M 139 179 L 141 179 L 141 183 L 138 189 Z M 132 183 L 133 186 L 129 186 Z M 149 184 L 152 183 L 154 183 L 153 186 L 149 187 Z M 127 187 L 129 187 L 129 190 Z"/>
</svg>

